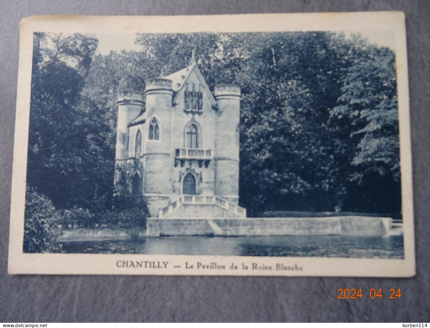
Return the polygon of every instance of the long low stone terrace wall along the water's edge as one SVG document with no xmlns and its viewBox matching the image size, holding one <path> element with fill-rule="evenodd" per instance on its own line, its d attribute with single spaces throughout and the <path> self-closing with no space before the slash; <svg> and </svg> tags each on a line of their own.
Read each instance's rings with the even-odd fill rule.
<svg viewBox="0 0 430 328">
<path fill-rule="evenodd" d="M 147 219 L 147 236 L 387 235 L 391 218 Z"/>
</svg>

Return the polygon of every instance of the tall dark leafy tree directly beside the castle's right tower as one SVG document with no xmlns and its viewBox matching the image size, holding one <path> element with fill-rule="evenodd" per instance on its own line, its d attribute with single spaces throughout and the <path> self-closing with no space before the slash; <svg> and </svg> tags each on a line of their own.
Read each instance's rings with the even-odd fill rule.
<svg viewBox="0 0 430 328">
<path fill-rule="evenodd" d="M 258 80 L 244 90 L 240 181 L 243 192 L 258 190 L 251 210 L 334 207 L 327 120 L 341 68 L 331 43 L 324 32 L 259 34 L 252 43 L 248 75 Z"/>
</svg>

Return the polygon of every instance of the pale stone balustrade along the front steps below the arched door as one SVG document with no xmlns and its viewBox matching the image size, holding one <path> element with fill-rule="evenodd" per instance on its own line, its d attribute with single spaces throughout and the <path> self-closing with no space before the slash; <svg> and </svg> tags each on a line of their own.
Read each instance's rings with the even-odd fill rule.
<svg viewBox="0 0 430 328">
<path fill-rule="evenodd" d="M 239 205 L 233 204 L 215 195 L 181 195 L 166 207 L 160 208 L 158 217 L 166 217 L 168 214 L 174 212 L 181 204 L 216 204 L 224 210 L 236 214 L 237 217 L 246 217 L 246 208 L 240 207 Z"/>
</svg>

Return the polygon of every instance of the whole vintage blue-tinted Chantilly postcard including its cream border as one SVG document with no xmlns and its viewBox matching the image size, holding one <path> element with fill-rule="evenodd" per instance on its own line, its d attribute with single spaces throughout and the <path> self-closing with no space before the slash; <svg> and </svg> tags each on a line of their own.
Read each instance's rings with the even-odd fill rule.
<svg viewBox="0 0 430 328">
<path fill-rule="evenodd" d="M 21 22 L 11 274 L 415 275 L 402 12 Z"/>
</svg>

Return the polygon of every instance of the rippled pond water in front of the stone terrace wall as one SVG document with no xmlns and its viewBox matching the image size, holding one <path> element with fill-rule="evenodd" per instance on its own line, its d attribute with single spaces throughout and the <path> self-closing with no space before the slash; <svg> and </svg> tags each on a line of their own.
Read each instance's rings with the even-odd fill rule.
<svg viewBox="0 0 430 328">
<path fill-rule="evenodd" d="M 160 237 L 64 241 L 66 253 L 403 258 L 402 236 Z"/>
</svg>

